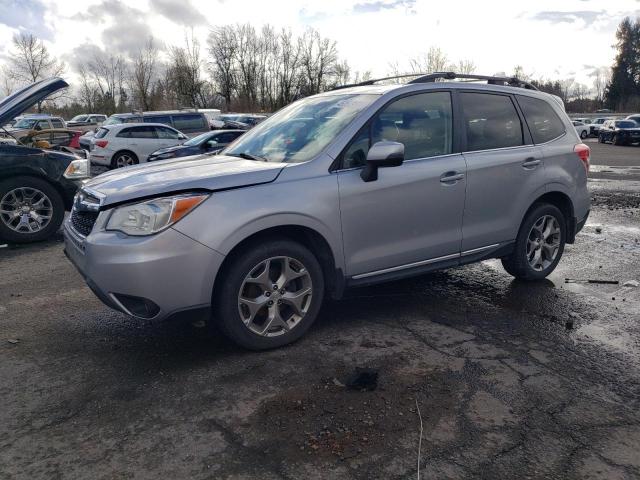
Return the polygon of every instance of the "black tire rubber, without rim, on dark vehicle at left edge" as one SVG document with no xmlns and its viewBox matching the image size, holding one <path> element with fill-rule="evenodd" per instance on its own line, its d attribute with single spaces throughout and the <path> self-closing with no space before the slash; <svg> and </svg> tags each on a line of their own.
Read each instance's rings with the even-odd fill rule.
<svg viewBox="0 0 640 480">
<path fill-rule="evenodd" d="M 51 237 L 58 231 L 60 225 L 62 225 L 62 221 L 64 220 L 65 208 L 60 192 L 58 192 L 49 182 L 41 178 L 26 176 L 12 177 L 0 181 L 0 199 L 2 199 L 2 197 L 4 197 L 4 195 L 10 190 L 20 187 L 36 188 L 49 197 L 51 206 L 53 207 L 51 221 L 49 222 L 49 225 L 39 232 L 18 233 L 11 230 L 3 221 L 0 220 L 0 238 L 9 243 L 31 243 L 39 242 Z"/>
</svg>

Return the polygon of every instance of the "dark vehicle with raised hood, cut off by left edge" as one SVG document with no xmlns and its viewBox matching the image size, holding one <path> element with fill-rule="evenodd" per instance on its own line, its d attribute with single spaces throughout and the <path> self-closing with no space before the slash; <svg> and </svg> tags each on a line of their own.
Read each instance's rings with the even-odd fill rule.
<svg viewBox="0 0 640 480">
<path fill-rule="evenodd" d="M 61 78 L 36 82 L 0 102 L 0 123 L 67 87 Z M 38 120 L 40 121 L 40 120 Z M 33 139 L 37 134 L 29 134 Z M 38 146 L 0 144 L 0 239 L 26 243 L 58 231 L 71 210 L 89 161 Z"/>
</svg>

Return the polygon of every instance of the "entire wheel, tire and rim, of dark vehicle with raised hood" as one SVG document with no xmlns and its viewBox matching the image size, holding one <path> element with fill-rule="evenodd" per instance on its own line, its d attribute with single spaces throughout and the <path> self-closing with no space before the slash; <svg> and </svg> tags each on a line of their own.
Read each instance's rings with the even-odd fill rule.
<svg viewBox="0 0 640 480">
<path fill-rule="evenodd" d="M 22 210 L 21 215 L 11 212 Z M 64 219 L 64 201 L 47 181 L 12 177 L 0 182 L 0 238 L 10 243 L 38 242 L 55 234 Z"/>
</svg>

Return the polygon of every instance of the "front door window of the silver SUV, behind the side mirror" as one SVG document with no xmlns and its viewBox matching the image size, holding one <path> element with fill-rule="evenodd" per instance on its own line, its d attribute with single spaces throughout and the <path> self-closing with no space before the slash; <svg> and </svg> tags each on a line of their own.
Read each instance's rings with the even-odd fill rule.
<svg viewBox="0 0 640 480">
<path fill-rule="evenodd" d="M 451 94 L 419 93 L 387 105 L 355 136 L 345 151 L 343 168 L 364 165 L 369 147 L 384 140 L 402 143 L 406 160 L 451 153 Z"/>
</svg>

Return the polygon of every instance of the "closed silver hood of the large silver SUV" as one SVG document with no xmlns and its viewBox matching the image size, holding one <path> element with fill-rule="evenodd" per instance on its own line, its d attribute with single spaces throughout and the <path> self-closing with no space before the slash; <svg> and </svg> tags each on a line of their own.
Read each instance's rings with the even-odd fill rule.
<svg viewBox="0 0 640 480">
<path fill-rule="evenodd" d="M 85 184 L 103 196 L 101 206 L 187 190 L 226 190 L 273 182 L 284 163 L 198 155 L 103 173 Z"/>
</svg>

